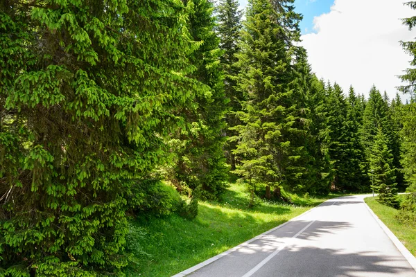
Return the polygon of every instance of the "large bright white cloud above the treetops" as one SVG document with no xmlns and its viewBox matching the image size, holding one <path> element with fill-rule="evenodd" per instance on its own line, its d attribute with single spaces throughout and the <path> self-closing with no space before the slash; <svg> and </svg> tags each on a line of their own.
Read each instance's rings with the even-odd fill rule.
<svg viewBox="0 0 416 277">
<path fill-rule="evenodd" d="M 400 40 L 413 40 L 401 18 L 415 15 L 404 0 L 336 0 L 331 12 L 315 17 L 316 33 L 302 35 L 312 70 L 318 78 L 352 84 L 368 95 L 372 84 L 390 99 L 401 83 L 396 77 L 408 68 L 410 56 Z"/>
</svg>

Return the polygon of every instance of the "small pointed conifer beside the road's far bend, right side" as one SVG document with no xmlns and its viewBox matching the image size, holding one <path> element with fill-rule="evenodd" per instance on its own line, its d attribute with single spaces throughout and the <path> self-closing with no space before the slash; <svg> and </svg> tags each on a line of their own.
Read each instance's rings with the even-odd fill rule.
<svg viewBox="0 0 416 277">
<path fill-rule="evenodd" d="M 393 166 L 393 155 L 388 148 L 388 137 L 379 127 L 374 137 L 370 154 L 370 177 L 372 188 L 379 195 L 376 200 L 392 207 L 399 206 L 396 188 L 396 168 Z"/>
</svg>

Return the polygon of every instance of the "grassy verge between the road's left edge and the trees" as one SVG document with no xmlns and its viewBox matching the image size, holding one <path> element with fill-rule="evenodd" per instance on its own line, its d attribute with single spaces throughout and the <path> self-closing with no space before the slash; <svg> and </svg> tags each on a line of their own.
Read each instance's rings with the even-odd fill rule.
<svg viewBox="0 0 416 277">
<path fill-rule="evenodd" d="M 132 223 L 138 266 L 128 276 L 172 276 L 308 211 L 326 198 L 292 197 L 294 204 L 261 202 L 248 208 L 243 186 L 233 184 L 218 202 L 202 202 L 196 220 L 173 215 Z"/>
</svg>

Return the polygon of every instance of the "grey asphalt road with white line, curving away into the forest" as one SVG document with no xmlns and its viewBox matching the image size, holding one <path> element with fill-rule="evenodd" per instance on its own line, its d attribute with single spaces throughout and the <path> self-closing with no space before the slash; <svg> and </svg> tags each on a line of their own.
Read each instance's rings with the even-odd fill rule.
<svg viewBox="0 0 416 277">
<path fill-rule="evenodd" d="M 187 276 L 416 277 L 363 198 L 331 199 Z"/>
</svg>

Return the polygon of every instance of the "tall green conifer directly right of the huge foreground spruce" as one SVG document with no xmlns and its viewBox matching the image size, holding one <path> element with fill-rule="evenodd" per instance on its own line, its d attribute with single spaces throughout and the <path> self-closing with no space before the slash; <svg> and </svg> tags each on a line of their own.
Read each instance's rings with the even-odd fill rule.
<svg viewBox="0 0 416 277">
<path fill-rule="evenodd" d="M 204 86 L 194 91 L 197 107 L 180 111 L 187 127 L 180 130 L 178 141 L 171 141 L 176 154 L 173 181 L 179 187 L 200 187 L 202 197 L 215 198 L 225 190 L 227 178 L 223 152 L 227 99 L 219 63 L 219 38 L 214 32 L 213 4 L 207 0 L 193 0 L 187 5 L 191 10 L 189 33 L 200 44 L 189 55 L 191 64 L 196 66 L 196 71 L 189 76 Z"/>
</svg>

